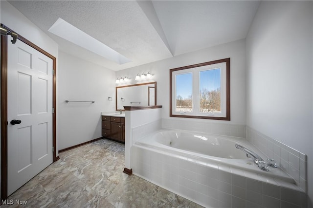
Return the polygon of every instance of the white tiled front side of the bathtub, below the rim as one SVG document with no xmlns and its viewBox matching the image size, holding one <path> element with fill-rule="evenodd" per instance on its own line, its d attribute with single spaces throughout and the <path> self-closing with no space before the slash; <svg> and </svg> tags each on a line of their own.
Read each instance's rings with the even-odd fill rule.
<svg viewBox="0 0 313 208">
<path fill-rule="evenodd" d="M 204 207 L 307 207 L 297 186 L 256 173 L 138 145 L 132 157 L 135 175 Z"/>
</svg>

